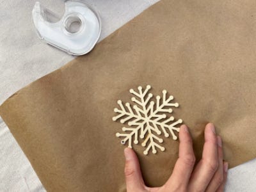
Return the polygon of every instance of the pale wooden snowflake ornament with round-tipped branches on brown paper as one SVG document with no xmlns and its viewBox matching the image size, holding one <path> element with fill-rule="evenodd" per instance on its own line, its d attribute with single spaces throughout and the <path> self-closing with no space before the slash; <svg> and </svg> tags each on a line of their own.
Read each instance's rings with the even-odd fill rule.
<svg viewBox="0 0 256 192">
<path fill-rule="evenodd" d="M 177 140 L 177 136 L 174 131 L 179 132 L 179 127 L 175 127 L 182 123 L 179 119 L 174 121 L 173 116 L 167 116 L 166 114 L 172 113 L 172 108 L 177 108 L 179 104 L 172 103 L 173 96 L 166 98 L 166 90 L 163 90 L 163 97 L 156 97 L 156 103 L 152 101 L 152 93 L 149 93 L 150 85 L 143 91 L 142 87 L 138 87 L 138 92 L 133 89 L 130 93 L 135 97 L 132 97 L 132 102 L 135 104 L 131 107 L 128 102 L 123 105 L 121 100 L 117 103 L 120 109 L 115 108 L 114 111 L 118 115 L 113 117 L 113 121 L 120 119 L 122 124 L 127 124 L 129 127 L 123 127 L 123 133 L 117 132 L 116 137 L 124 138 L 121 143 L 124 145 L 128 141 L 128 147 L 132 148 L 133 143 L 138 144 L 138 135 L 143 140 L 141 145 L 145 147 L 143 154 L 147 155 L 151 149 L 153 154 L 156 154 L 157 149 L 164 151 L 164 147 L 159 143 L 163 143 L 163 139 L 159 135 L 164 134 L 164 137 L 168 138 L 169 133 L 172 134 L 173 140 Z M 150 101 L 151 100 L 151 101 Z M 132 109 L 133 108 L 133 109 Z M 169 132 L 169 133 L 168 133 Z"/>
</svg>

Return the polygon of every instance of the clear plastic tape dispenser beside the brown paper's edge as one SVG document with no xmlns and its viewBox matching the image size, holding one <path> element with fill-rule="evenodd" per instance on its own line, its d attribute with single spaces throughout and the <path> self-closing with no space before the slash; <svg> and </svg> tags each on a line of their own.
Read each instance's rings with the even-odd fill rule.
<svg viewBox="0 0 256 192">
<path fill-rule="evenodd" d="M 90 52 L 100 37 L 99 14 L 83 1 L 66 0 L 61 18 L 36 2 L 32 17 L 38 36 L 68 54 Z"/>
</svg>

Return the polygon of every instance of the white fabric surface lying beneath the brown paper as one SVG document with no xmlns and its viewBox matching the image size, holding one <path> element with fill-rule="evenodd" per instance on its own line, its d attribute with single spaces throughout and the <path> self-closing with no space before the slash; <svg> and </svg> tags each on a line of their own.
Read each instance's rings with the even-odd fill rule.
<svg viewBox="0 0 256 192">
<path fill-rule="evenodd" d="M 158 0 L 87 0 L 102 19 L 100 39 Z M 41 1 L 63 13 L 63 1 Z M 31 20 L 35 0 L 1 1 L 0 104 L 20 88 L 60 68 L 74 57 L 41 42 Z M 60 14 L 61 15 L 61 14 Z M 45 191 L 31 164 L 0 118 L 0 191 Z M 226 191 L 255 191 L 256 159 L 228 171 Z"/>
</svg>

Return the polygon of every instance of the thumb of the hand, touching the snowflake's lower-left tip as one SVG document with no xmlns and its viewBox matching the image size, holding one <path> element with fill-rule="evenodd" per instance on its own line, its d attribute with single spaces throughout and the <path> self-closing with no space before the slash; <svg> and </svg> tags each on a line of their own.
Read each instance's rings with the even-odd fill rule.
<svg viewBox="0 0 256 192">
<path fill-rule="evenodd" d="M 138 158 L 131 148 L 124 149 L 125 156 L 125 180 L 127 192 L 145 190 L 145 184 L 141 176 Z"/>
</svg>

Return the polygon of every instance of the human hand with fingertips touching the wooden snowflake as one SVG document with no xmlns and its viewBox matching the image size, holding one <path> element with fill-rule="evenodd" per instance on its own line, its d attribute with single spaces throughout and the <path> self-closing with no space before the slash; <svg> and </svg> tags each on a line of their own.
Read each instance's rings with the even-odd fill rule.
<svg viewBox="0 0 256 192">
<path fill-rule="evenodd" d="M 193 143 L 186 125 L 180 127 L 179 159 L 172 175 L 159 188 L 145 186 L 138 158 L 131 148 L 125 148 L 125 180 L 127 192 L 171 192 L 171 191 L 223 191 L 227 180 L 228 163 L 223 162 L 220 136 L 216 136 L 213 124 L 205 127 L 205 143 L 202 159 L 195 164 Z"/>
</svg>

